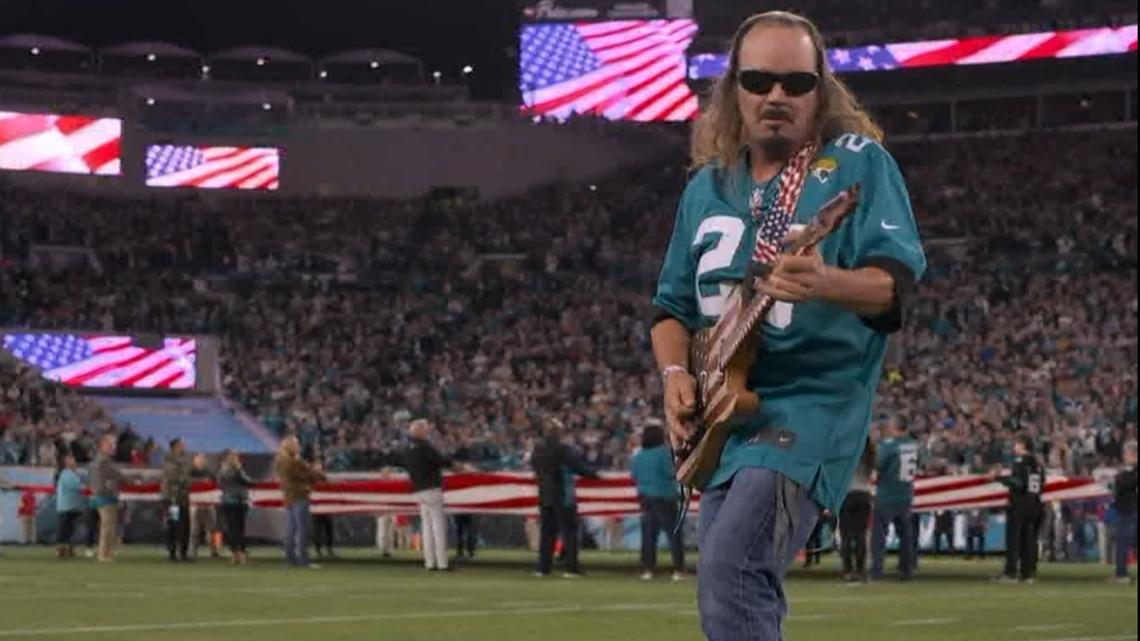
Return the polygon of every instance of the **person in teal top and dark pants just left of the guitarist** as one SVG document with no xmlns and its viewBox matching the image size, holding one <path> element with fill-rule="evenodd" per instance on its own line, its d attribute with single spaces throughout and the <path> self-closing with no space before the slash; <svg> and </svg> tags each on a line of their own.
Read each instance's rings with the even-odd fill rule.
<svg viewBox="0 0 1140 641">
<path fill-rule="evenodd" d="M 662 532 L 669 536 L 673 581 L 681 581 L 685 576 L 685 542 L 677 527 L 681 488 L 673 476 L 673 453 L 660 424 L 642 430 L 642 446 L 629 463 L 629 472 L 637 484 L 642 509 L 642 581 L 651 581 L 657 573 L 657 541 Z"/>
</svg>

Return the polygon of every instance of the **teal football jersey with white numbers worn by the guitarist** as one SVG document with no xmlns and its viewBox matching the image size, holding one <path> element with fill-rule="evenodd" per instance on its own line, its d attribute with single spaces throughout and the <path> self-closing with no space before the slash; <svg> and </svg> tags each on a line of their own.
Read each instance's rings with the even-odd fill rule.
<svg viewBox="0 0 1140 641">
<path fill-rule="evenodd" d="M 889 259 L 920 278 L 926 257 L 902 173 L 869 138 L 844 135 L 817 153 L 793 224 L 808 222 L 855 182 L 863 189 L 860 205 L 821 244 L 823 260 L 855 269 Z M 756 243 L 749 203 L 764 187 L 752 179 L 744 155 L 735 168 L 710 165 L 692 178 L 661 267 L 653 298 L 658 308 L 690 330 L 716 323 L 748 267 Z M 735 428 L 711 482 L 728 481 L 742 466 L 768 468 L 838 512 L 866 443 L 888 336 L 821 301 L 775 305 L 763 333 L 749 376 L 763 406 Z"/>
</svg>

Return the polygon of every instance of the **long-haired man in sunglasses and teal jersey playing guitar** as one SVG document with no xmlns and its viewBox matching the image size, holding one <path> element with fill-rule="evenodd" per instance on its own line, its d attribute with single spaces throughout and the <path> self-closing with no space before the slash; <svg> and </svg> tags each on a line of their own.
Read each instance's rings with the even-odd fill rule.
<svg viewBox="0 0 1140 641">
<path fill-rule="evenodd" d="M 839 512 L 888 335 L 926 269 L 902 175 L 880 139 L 811 22 L 768 13 L 741 25 L 693 132 L 695 175 L 653 299 L 675 445 L 697 408 L 693 333 L 718 319 L 749 274 L 766 273 L 755 286 L 779 301 L 748 376 L 762 406 L 733 425 L 701 497 L 698 601 L 711 641 L 780 639 L 787 565 L 820 510 Z M 855 184 L 858 208 L 817 251 L 779 253 L 796 225 Z M 771 269 L 754 270 L 754 255 Z"/>
</svg>

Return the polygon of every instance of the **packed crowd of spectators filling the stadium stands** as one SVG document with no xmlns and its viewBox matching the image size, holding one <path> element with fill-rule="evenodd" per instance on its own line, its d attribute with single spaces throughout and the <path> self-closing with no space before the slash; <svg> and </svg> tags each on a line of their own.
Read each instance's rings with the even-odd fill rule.
<svg viewBox="0 0 1140 641">
<path fill-rule="evenodd" d="M 905 422 L 931 471 L 1008 462 L 1021 431 L 1069 473 L 1118 461 L 1137 420 L 1134 131 L 890 147 L 931 269 L 876 425 Z M 622 468 L 658 414 L 650 295 L 684 181 L 677 149 L 450 209 L 0 186 L 0 327 L 215 333 L 226 393 L 333 471 L 382 466 L 413 416 L 446 451 L 518 468 L 548 414 L 588 464 Z M 5 461 L 125 431 L 0 367 Z"/>
</svg>

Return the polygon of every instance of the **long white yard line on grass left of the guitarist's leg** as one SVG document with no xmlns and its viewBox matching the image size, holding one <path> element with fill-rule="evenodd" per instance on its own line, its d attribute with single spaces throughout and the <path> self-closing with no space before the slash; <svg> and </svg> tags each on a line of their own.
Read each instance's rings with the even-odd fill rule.
<svg viewBox="0 0 1140 641">
<path fill-rule="evenodd" d="M 197 622 L 174 622 L 174 623 L 140 623 L 130 625 L 90 625 L 81 627 L 46 627 L 28 630 L 0 630 L 0 638 L 3 636 L 52 636 L 60 634 L 97 634 L 100 632 L 160 632 L 166 630 L 196 630 L 209 627 L 256 627 L 274 625 L 306 625 L 321 623 L 360 623 L 369 620 L 392 620 L 392 619 L 424 619 L 424 618 L 465 618 L 465 617 L 503 617 L 503 616 L 529 616 L 529 615 L 552 615 L 573 612 L 621 612 L 635 610 L 661 610 L 661 605 L 645 606 L 602 606 L 597 608 L 583 607 L 559 607 L 559 608 L 531 608 L 513 611 L 503 610 L 465 610 L 465 611 L 434 611 L 434 612 L 390 612 L 380 615 L 347 615 L 327 617 L 304 617 L 304 618 L 264 618 L 264 619 L 230 619 L 230 620 L 197 620 Z"/>
</svg>

